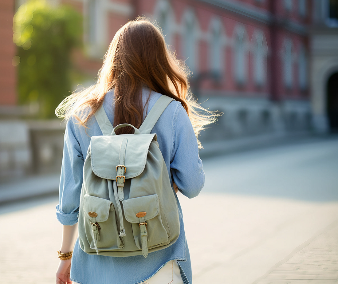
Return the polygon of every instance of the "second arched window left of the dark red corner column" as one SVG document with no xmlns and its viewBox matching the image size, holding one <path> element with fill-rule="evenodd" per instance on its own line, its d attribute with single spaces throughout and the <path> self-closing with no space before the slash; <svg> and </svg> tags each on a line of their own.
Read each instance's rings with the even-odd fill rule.
<svg viewBox="0 0 338 284">
<path fill-rule="evenodd" d="M 234 75 L 238 84 L 243 85 L 247 79 L 246 32 L 243 25 L 237 26 L 234 34 Z"/>
</svg>

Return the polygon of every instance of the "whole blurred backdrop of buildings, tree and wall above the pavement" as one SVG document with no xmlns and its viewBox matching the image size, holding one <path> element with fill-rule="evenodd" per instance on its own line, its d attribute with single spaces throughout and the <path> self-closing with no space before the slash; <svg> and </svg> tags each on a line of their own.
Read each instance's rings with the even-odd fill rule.
<svg viewBox="0 0 338 284">
<path fill-rule="evenodd" d="M 115 32 L 145 15 L 186 60 L 193 93 L 224 113 L 204 150 L 338 127 L 338 1 L 1 1 L 0 180 L 58 172 L 54 115 L 95 83 Z"/>
</svg>

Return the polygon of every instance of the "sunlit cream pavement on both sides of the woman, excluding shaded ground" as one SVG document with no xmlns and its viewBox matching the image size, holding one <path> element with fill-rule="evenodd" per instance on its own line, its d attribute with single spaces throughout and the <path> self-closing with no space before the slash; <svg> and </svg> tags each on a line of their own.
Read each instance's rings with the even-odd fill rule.
<svg viewBox="0 0 338 284">
<path fill-rule="evenodd" d="M 291 258 L 290 253 L 295 248 L 318 236 L 318 232 L 335 222 L 338 216 L 337 202 L 212 193 L 202 193 L 193 199 L 182 195 L 179 198 L 194 284 L 251 284 L 266 275 L 276 263 L 288 256 Z M 56 251 L 61 244 L 62 231 L 55 219 L 57 198 L 51 197 L 45 204 L 39 202 L 0 208 L 0 217 L 6 224 L 0 234 L 3 244 L 0 279 L 3 283 L 55 283 Z M 199 228 L 197 234 L 196 228 Z M 337 229 L 327 234 L 328 238 L 337 239 Z M 312 259 L 312 248 L 308 248 L 310 253 L 304 255 L 304 261 Z M 316 245 L 313 250 L 315 252 Z M 338 254 L 337 245 L 331 246 L 331 252 Z M 323 251 L 323 259 L 330 257 Z"/>
</svg>

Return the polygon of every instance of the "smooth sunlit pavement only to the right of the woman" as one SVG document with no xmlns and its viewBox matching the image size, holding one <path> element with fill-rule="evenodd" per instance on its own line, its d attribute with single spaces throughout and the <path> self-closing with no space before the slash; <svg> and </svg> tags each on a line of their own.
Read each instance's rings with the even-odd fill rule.
<svg viewBox="0 0 338 284">
<path fill-rule="evenodd" d="M 181 196 L 180 200 L 194 284 L 255 283 L 276 263 L 290 258 L 299 245 L 338 220 L 337 202 L 230 194 L 201 194 L 191 200 Z M 202 208 L 210 214 L 200 214 Z M 198 234 L 196 228 L 202 228 Z M 337 239 L 336 232 L 328 234 Z M 338 255 L 337 247 L 332 251 Z M 304 255 L 304 261 L 311 260 L 311 254 Z"/>
</svg>

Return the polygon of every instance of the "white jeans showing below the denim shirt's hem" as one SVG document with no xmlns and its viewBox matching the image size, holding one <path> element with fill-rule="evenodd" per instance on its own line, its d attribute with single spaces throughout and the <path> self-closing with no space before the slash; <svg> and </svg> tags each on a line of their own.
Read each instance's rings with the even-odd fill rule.
<svg viewBox="0 0 338 284">
<path fill-rule="evenodd" d="M 168 261 L 155 275 L 143 284 L 183 284 L 177 260 Z"/>
</svg>

